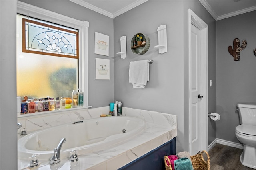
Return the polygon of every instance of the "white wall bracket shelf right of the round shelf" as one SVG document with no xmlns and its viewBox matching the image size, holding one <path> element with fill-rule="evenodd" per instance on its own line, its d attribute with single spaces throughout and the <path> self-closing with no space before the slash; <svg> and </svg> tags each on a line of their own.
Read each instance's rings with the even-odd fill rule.
<svg viewBox="0 0 256 170">
<path fill-rule="evenodd" d="M 166 25 L 160 25 L 157 29 L 158 31 L 158 45 L 155 48 L 158 48 L 158 53 L 164 54 L 167 52 L 167 28 Z"/>
</svg>

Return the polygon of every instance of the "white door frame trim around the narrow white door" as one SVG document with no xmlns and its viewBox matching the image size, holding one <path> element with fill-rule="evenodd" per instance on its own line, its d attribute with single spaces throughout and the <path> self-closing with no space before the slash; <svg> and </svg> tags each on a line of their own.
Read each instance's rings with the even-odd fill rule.
<svg viewBox="0 0 256 170">
<path fill-rule="evenodd" d="M 191 24 L 200 29 L 200 150 L 208 152 L 208 25 L 188 9 L 189 151 L 191 152 Z"/>
</svg>

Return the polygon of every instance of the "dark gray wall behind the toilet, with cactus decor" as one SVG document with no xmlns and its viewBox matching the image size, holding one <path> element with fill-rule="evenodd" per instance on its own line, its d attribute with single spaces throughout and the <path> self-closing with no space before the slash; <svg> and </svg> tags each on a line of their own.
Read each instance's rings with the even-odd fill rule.
<svg viewBox="0 0 256 170">
<path fill-rule="evenodd" d="M 256 11 L 217 21 L 217 137 L 239 143 L 235 128 L 239 125 L 236 104 L 256 103 Z M 247 41 L 240 61 L 233 61 L 228 46 L 233 40 Z"/>
</svg>

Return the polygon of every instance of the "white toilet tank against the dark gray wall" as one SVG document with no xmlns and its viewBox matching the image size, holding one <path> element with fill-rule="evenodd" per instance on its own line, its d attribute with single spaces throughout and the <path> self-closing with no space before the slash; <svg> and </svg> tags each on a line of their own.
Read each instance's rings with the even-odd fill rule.
<svg viewBox="0 0 256 170">
<path fill-rule="evenodd" d="M 256 126 L 256 104 L 236 104 L 238 107 L 240 124 Z"/>
</svg>

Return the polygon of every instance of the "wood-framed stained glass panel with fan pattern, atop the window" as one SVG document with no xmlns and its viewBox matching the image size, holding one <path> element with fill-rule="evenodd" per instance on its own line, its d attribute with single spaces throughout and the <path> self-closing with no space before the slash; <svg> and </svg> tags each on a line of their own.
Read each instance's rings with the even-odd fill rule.
<svg viewBox="0 0 256 170">
<path fill-rule="evenodd" d="M 78 31 L 22 18 L 22 51 L 78 59 Z"/>
</svg>

